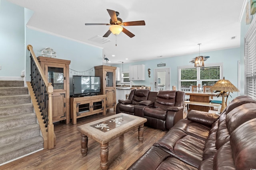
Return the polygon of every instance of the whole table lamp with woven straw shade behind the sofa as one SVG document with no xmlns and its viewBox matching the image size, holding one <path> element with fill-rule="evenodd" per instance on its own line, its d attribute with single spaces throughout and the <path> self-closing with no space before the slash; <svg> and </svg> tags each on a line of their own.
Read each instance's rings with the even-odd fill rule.
<svg viewBox="0 0 256 170">
<path fill-rule="evenodd" d="M 220 91 L 220 96 L 222 96 L 222 105 L 220 111 L 222 112 L 226 108 L 225 97 L 229 94 L 227 92 L 239 92 L 238 88 L 234 86 L 229 80 L 225 80 L 223 77 L 222 80 L 218 80 L 212 87 L 211 90 Z"/>
</svg>

